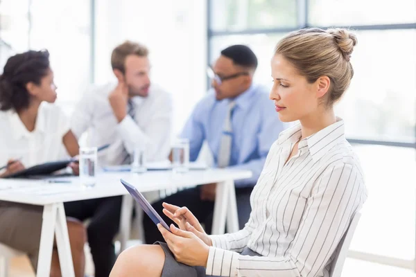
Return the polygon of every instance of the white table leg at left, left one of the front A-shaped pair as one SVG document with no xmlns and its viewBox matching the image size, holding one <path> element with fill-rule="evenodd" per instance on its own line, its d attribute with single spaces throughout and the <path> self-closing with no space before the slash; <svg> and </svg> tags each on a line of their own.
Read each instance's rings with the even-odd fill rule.
<svg viewBox="0 0 416 277">
<path fill-rule="evenodd" d="M 37 260 L 37 277 L 49 277 L 55 235 L 57 204 L 44 206 L 42 217 L 42 233 L 40 235 L 39 259 Z"/>
</svg>

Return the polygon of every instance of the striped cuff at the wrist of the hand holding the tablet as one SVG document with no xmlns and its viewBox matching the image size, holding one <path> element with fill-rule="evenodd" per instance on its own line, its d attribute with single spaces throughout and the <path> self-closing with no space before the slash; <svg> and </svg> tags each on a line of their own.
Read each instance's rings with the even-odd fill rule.
<svg viewBox="0 0 416 277">
<path fill-rule="evenodd" d="M 207 276 L 237 276 L 239 253 L 209 247 Z"/>
</svg>

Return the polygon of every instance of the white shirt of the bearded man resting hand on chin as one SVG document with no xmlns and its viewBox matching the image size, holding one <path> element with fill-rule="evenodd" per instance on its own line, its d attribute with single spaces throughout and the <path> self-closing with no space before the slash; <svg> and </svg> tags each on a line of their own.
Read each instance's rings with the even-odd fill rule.
<svg viewBox="0 0 416 277">
<path fill-rule="evenodd" d="M 119 165 L 137 147 L 146 150 L 148 161 L 168 157 L 171 148 L 172 98 L 171 94 L 155 84 L 146 98 L 132 98 L 135 116 L 127 115 L 117 122 L 108 96 L 116 84 L 105 84 L 85 93 L 71 119 L 72 132 L 78 137 L 90 129 L 90 143 L 97 147 L 110 144 L 98 154 L 101 166 Z"/>
</svg>

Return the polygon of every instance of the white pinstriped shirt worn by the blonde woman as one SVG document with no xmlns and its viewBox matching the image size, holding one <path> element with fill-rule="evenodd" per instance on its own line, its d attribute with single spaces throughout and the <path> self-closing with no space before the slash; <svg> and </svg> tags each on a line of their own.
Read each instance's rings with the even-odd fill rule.
<svg viewBox="0 0 416 277">
<path fill-rule="evenodd" d="M 211 235 L 207 275 L 329 276 L 338 242 L 367 192 L 342 119 L 302 139 L 285 164 L 300 137 L 295 125 L 270 148 L 244 229 Z M 261 256 L 241 256 L 244 247 Z"/>
</svg>

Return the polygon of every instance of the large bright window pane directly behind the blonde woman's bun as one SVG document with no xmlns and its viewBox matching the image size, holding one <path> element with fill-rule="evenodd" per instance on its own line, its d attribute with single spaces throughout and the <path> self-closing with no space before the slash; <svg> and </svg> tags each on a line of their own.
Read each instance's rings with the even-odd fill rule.
<svg viewBox="0 0 416 277">
<path fill-rule="evenodd" d="M 416 29 L 356 35 L 354 78 L 338 107 L 347 136 L 415 143 Z"/>
</svg>

